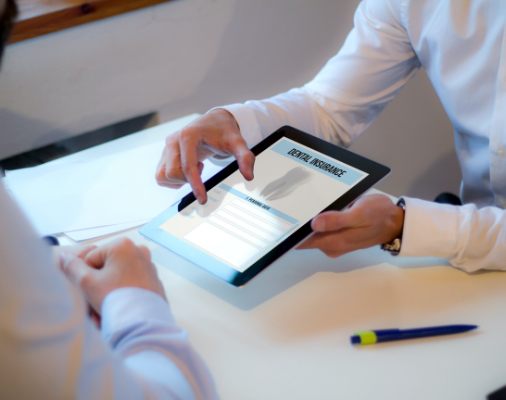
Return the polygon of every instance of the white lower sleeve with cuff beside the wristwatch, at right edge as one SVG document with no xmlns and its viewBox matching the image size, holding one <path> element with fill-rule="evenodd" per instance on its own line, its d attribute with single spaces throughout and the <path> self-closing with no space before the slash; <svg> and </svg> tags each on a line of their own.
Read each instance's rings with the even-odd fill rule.
<svg viewBox="0 0 506 400">
<path fill-rule="evenodd" d="M 405 197 L 401 256 L 440 257 L 466 272 L 506 270 L 506 212 Z"/>
</svg>

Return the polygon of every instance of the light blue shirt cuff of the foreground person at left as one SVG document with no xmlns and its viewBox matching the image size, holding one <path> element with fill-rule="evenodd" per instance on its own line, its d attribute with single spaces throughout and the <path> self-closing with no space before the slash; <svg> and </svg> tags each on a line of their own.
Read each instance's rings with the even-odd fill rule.
<svg viewBox="0 0 506 400">
<path fill-rule="evenodd" d="M 118 333 L 128 332 L 149 321 L 176 326 L 167 301 L 146 289 L 128 287 L 113 290 L 104 299 L 101 311 L 101 333 L 109 343 L 118 339 Z M 114 343 L 111 345 L 114 347 Z"/>
</svg>

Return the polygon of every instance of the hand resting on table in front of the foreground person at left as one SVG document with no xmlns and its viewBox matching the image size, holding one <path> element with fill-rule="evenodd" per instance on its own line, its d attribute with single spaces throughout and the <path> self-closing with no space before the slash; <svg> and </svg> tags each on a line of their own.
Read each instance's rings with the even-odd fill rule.
<svg viewBox="0 0 506 400">
<path fill-rule="evenodd" d="M 60 257 L 60 267 L 97 313 L 105 297 L 120 288 L 142 288 L 165 299 L 148 248 L 136 246 L 130 239 L 92 249 L 83 258 L 65 253 Z"/>
</svg>

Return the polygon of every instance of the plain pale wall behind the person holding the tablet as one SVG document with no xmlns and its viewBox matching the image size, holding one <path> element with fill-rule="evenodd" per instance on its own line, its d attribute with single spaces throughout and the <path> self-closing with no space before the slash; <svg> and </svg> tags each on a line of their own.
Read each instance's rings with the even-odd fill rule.
<svg viewBox="0 0 506 400">
<path fill-rule="evenodd" d="M 170 119 L 300 85 L 339 48 L 357 3 L 175 0 L 12 45 L 0 159 L 152 111 Z M 456 188 L 451 140 L 421 77 L 352 148 L 392 167 L 383 189 L 431 197 Z M 441 166 L 448 177 L 431 174 Z"/>
</svg>

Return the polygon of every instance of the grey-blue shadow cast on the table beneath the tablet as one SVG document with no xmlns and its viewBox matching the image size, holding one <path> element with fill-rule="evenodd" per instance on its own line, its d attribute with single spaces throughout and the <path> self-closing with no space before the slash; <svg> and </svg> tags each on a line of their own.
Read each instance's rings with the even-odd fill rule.
<svg viewBox="0 0 506 400">
<path fill-rule="evenodd" d="M 403 268 L 434 265 L 434 260 L 393 257 L 377 248 L 329 258 L 318 250 L 292 250 L 242 287 L 232 286 L 161 247 L 153 259 L 204 290 L 243 310 L 251 310 L 318 272 L 345 273 L 382 263 Z M 441 265 L 441 262 L 438 263 Z"/>
</svg>

